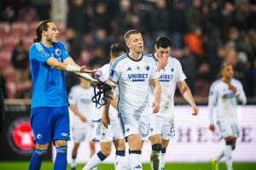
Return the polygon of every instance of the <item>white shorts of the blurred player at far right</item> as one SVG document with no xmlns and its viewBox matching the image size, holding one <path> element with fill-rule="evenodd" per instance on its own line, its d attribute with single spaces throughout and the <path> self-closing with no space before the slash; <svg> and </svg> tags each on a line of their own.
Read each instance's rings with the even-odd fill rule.
<svg viewBox="0 0 256 170">
<path fill-rule="evenodd" d="M 239 137 L 239 128 L 236 121 L 222 120 L 217 122 L 220 137 Z"/>
</svg>

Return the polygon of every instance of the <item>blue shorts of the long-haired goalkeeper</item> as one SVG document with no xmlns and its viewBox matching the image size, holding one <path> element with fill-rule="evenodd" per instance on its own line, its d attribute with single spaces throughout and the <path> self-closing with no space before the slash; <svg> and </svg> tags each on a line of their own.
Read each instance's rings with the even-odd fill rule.
<svg viewBox="0 0 256 170">
<path fill-rule="evenodd" d="M 31 126 L 34 140 L 38 144 L 47 144 L 50 139 L 69 140 L 68 107 L 36 107 L 31 110 Z"/>
</svg>

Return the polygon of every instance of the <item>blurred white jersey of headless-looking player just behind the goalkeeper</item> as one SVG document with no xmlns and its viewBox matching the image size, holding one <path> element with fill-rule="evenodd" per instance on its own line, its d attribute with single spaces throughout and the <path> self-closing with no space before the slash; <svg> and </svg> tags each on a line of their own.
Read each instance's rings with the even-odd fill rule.
<svg viewBox="0 0 256 170">
<path fill-rule="evenodd" d="M 75 105 L 77 110 L 86 117 L 89 122 L 95 122 L 102 117 L 102 110 L 96 109 L 95 103 L 91 101 L 94 96 L 94 89 L 82 88 L 80 85 L 75 85 L 71 88 L 68 95 L 70 104 Z M 74 116 L 73 127 L 86 127 L 86 122 L 82 122 L 79 116 Z"/>
</svg>

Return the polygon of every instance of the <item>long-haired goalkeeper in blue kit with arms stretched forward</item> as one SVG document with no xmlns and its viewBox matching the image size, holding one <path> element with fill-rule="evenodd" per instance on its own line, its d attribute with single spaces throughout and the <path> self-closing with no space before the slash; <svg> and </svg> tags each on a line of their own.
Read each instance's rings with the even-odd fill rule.
<svg viewBox="0 0 256 170">
<path fill-rule="evenodd" d="M 29 169 L 40 169 L 52 140 L 56 147 L 54 169 L 64 170 L 67 169 L 69 115 L 63 71 L 94 71 L 75 64 L 64 44 L 58 41 L 60 32 L 51 20 L 41 21 L 36 34 L 29 52 L 33 82 L 31 126 L 36 142 Z"/>
</svg>

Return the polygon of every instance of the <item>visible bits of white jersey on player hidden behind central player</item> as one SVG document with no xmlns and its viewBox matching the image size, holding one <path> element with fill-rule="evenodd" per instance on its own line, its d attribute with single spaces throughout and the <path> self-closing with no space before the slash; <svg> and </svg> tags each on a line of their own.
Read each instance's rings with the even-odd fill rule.
<svg viewBox="0 0 256 170">
<path fill-rule="evenodd" d="M 108 80 L 109 77 L 109 71 L 110 71 L 110 64 L 107 65 L 103 65 L 101 70 L 102 70 L 102 77 L 104 77 L 105 80 Z M 116 97 L 116 99 L 118 99 L 118 87 L 114 89 L 114 95 Z M 110 105 L 109 107 L 109 118 L 110 119 L 116 119 L 118 118 L 118 111 L 116 109 L 113 108 L 112 105 Z"/>
</svg>

